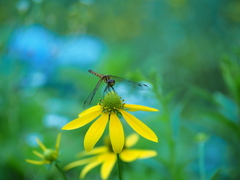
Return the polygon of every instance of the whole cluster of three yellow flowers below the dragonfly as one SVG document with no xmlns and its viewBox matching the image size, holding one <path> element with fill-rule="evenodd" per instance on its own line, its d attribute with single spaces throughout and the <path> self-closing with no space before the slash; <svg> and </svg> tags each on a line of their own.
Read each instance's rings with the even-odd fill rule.
<svg viewBox="0 0 240 180">
<path fill-rule="evenodd" d="M 128 111 L 158 110 L 141 105 L 125 104 L 116 92 L 111 91 L 98 105 L 81 112 L 77 119 L 66 124 L 62 129 L 72 130 L 80 128 L 96 119 L 84 137 L 84 148 L 86 151 L 79 153 L 79 157 L 84 159 L 68 164 L 65 166 L 64 170 L 85 165 L 80 173 L 80 178 L 84 178 L 91 169 L 101 165 L 101 178 L 107 179 L 117 159 L 121 159 L 121 161 L 124 162 L 131 162 L 137 159 L 156 156 L 157 152 L 154 150 L 131 149 L 131 147 L 137 143 L 139 136 L 134 133 L 125 139 L 124 129 L 120 118 L 125 119 L 127 124 L 142 137 L 153 142 L 158 142 L 158 138 L 147 125 L 130 114 Z M 103 135 L 108 123 L 109 138 L 105 141 L 105 146 L 94 148 L 95 144 Z M 56 162 L 59 154 L 60 139 L 61 134 L 58 134 L 55 149 L 53 150 L 46 148 L 44 144 L 37 138 L 37 143 L 43 150 L 43 154 L 35 150 L 33 153 L 40 157 L 41 160 L 36 161 L 26 159 L 26 161 L 36 165 L 51 164 L 52 162 Z M 57 163 L 55 164 L 57 165 Z"/>
</svg>

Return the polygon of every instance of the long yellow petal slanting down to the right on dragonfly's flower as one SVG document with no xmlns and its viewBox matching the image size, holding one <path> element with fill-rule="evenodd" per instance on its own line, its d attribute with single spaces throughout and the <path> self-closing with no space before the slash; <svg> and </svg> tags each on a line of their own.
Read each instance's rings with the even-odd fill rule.
<svg viewBox="0 0 240 180">
<path fill-rule="evenodd" d="M 131 126 L 131 128 L 133 128 L 133 130 L 136 131 L 139 135 L 150 141 L 158 142 L 156 134 L 142 121 L 124 110 L 120 110 L 120 112 L 129 126 Z"/>
</svg>

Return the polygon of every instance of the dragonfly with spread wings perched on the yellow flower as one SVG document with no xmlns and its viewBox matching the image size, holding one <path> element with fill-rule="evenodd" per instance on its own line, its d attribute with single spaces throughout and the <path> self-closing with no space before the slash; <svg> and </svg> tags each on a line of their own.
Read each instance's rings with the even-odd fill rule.
<svg viewBox="0 0 240 180">
<path fill-rule="evenodd" d="M 117 76 L 113 76 L 113 75 L 105 75 L 105 74 L 98 74 L 92 70 L 88 70 L 88 72 L 90 72 L 91 74 L 97 76 L 100 78 L 100 80 L 97 82 L 95 88 L 93 89 L 93 91 L 91 92 L 91 94 L 88 96 L 88 98 L 86 99 L 86 101 L 84 102 L 83 106 L 86 107 L 88 105 L 91 104 L 100 84 L 102 82 L 106 83 L 106 87 L 103 91 L 103 93 L 106 92 L 110 92 L 110 91 L 115 91 L 114 89 L 114 85 L 115 82 L 119 82 L 119 83 L 124 83 L 130 87 L 136 88 L 136 89 L 149 89 L 148 85 L 143 84 L 143 83 L 139 83 L 139 82 L 134 82 L 134 81 L 130 81 L 130 80 L 126 80 L 123 79 L 121 77 L 117 77 Z"/>
</svg>

